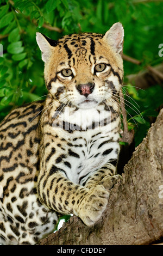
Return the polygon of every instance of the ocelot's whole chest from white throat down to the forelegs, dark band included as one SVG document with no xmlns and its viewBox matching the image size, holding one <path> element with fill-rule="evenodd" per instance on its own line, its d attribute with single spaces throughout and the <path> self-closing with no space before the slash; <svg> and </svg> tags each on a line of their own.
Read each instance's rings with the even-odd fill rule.
<svg viewBox="0 0 163 256">
<path fill-rule="evenodd" d="M 51 125 L 43 126 L 42 132 L 45 148 L 42 161 L 47 167 L 53 164 L 55 171 L 64 170 L 68 179 L 80 184 L 83 176 L 110 159 L 117 159 L 119 119 L 114 119 L 103 106 L 78 110 L 65 107 L 64 112 L 55 113 L 51 120 Z"/>
</svg>

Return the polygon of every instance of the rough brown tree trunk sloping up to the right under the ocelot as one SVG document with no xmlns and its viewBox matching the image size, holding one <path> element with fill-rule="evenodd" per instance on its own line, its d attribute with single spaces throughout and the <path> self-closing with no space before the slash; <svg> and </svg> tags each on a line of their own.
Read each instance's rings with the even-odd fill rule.
<svg viewBox="0 0 163 256">
<path fill-rule="evenodd" d="M 149 245 L 163 237 L 163 109 L 112 188 L 102 220 L 88 228 L 76 216 L 40 245 Z"/>
</svg>

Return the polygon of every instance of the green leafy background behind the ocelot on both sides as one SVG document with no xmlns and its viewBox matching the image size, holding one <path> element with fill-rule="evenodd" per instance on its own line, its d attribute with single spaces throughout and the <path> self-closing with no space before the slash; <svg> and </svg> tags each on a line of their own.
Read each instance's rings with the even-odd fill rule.
<svg viewBox="0 0 163 256">
<path fill-rule="evenodd" d="M 141 65 L 124 61 L 126 76 L 162 62 L 162 1 L 151 0 L 0 0 L 0 120 L 11 109 L 26 102 L 45 99 L 43 62 L 35 34 L 52 39 L 79 32 L 105 33 L 120 21 L 125 32 L 124 53 L 141 60 Z M 1 54 L 2 55 L 2 54 Z M 151 125 L 151 117 L 163 103 L 159 84 L 137 90 L 126 84 L 129 129 L 135 129 L 138 145 Z M 139 105 L 139 106 L 137 106 Z"/>
</svg>

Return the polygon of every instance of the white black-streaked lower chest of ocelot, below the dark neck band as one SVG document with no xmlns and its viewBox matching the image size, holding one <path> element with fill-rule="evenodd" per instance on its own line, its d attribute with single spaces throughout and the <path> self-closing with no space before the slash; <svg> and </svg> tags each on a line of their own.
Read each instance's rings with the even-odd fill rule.
<svg viewBox="0 0 163 256">
<path fill-rule="evenodd" d="M 73 131 L 67 148 L 66 161 L 71 164 L 71 169 L 67 168 L 68 179 L 80 184 L 81 177 L 104 166 L 110 158 L 115 159 L 117 138 L 118 133 L 110 132 L 108 126 Z"/>
</svg>

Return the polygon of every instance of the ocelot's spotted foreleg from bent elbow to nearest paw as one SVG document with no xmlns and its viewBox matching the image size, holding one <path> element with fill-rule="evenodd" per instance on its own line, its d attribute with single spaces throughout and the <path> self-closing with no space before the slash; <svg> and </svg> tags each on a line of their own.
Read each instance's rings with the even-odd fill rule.
<svg viewBox="0 0 163 256">
<path fill-rule="evenodd" d="M 42 204 L 61 214 L 74 214 L 90 226 L 102 216 L 109 192 L 103 185 L 87 188 L 68 180 L 64 172 L 52 166 L 40 172 L 37 191 Z"/>
</svg>

